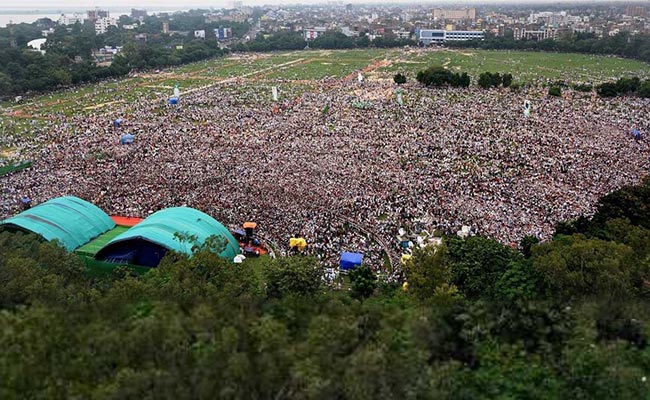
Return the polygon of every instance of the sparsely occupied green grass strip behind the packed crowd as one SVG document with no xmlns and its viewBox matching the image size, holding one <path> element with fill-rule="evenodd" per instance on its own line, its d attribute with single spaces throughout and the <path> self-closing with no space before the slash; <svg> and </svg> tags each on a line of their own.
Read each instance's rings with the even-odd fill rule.
<svg viewBox="0 0 650 400">
<path fill-rule="evenodd" d="M 127 113 L 143 101 L 165 104 L 175 84 L 183 92 L 238 82 L 250 82 L 257 90 L 269 91 L 283 82 L 284 93 L 300 94 L 311 88 L 310 81 L 325 78 L 390 80 L 397 72 L 414 79 L 429 66 L 468 72 L 477 79 L 481 72 L 512 73 L 515 82 L 602 82 L 621 76 L 650 78 L 650 65 L 615 57 L 582 54 L 486 50 L 362 49 L 305 50 L 265 54 L 231 55 L 170 68 L 159 73 L 142 73 L 119 81 L 83 85 L 73 89 L 28 98 L 23 104 L 0 104 L 0 133 L 25 135 L 43 122 L 61 115 L 94 115 L 119 110 Z M 289 86 L 287 84 L 292 86 Z M 0 142 L 0 150 L 8 148 Z"/>
</svg>

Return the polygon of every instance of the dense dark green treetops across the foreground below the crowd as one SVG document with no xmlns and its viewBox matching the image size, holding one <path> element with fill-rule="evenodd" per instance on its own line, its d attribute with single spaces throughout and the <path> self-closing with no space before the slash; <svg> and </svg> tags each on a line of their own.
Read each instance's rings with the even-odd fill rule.
<svg viewBox="0 0 650 400">
<path fill-rule="evenodd" d="M 447 236 L 405 286 L 209 248 L 92 278 L 2 233 L 0 398 L 648 398 L 648 204 L 650 180 L 545 243 Z"/>
</svg>

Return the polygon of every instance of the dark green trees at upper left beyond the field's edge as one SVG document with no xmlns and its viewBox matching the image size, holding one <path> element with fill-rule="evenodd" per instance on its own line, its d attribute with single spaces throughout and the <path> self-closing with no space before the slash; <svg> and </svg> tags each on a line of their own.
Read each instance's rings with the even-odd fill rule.
<svg viewBox="0 0 650 400">
<path fill-rule="evenodd" d="M 174 16 L 170 29 L 205 29 L 205 40 L 193 35 L 162 34 L 162 16 L 146 17 L 145 23 L 132 31 L 109 27 L 100 35 L 95 33 L 90 22 L 65 27 L 39 20 L 33 24 L 14 25 L 11 30 L 0 28 L 0 98 L 121 77 L 133 70 L 158 69 L 219 57 L 228 50 L 221 49 L 214 34 L 210 35 L 212 29 L 227 25 L 233 35 L 242 35 L 250 28 L 247 23 L 205 23 L 204 20 L 196 12 L 181 14 Z M 120 23 L 135 21 L 122 16 Z M 41 37 L 41 30 L 47 26 L 54 26 L 54 32 L 47 36 L 45 54 L 27 49 L 27 42 Z M 137 39 L 139 34 L 146 36 Z M 98 65 L 92 55 L 93 50 L 104 46 L 122 47 L 110 66 Z"/>
</svg>

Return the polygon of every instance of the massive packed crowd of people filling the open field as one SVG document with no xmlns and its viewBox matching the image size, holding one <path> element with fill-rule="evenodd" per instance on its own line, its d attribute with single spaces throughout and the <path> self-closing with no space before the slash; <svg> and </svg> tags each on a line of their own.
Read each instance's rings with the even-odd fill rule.
<svg viewBox="0 0 650 400">
<path fill-rule="evenodd" d="M 270 83 L 236 81 L 183 95 L 180 108 L 154 99 L 53 116 L 24 146 L 33 168 L 0 178 L 0 217 L 23 196 L 142 217 L 187 205 L 230 227 L 258 222 L 281 253 L 300 235 L 326 264 L 359 250 L 379 268 L 400 228 L 548 239 L 650 168 L 646 140 L 630 134 L 650 134 L 647 100 L 409 84 L 400 106 L 392 82 L 273 85 L 279 102 Z M 125 132 L 134 144 L 119 144 Z"/>
</svg>

